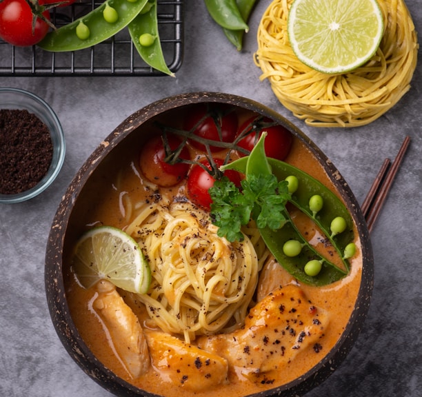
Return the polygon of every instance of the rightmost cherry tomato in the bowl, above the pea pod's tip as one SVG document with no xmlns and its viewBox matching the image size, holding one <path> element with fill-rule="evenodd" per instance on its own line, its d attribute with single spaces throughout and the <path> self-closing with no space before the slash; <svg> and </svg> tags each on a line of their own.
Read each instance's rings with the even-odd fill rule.
<svg viewBox="0 0 422 397">
<path fill-rule="evenodd" d="M 239 129 L 239 134 L 248 128 L 250 125 L 249 131 L 252 130 L 252 123 L 255 117 L 252 117 L 245 121 L 241 128 Z M 271 123 L 272 120 L 265 117 L 263 119 L 265 123 Z M 258 141 L 259 137 L 263 133 L 263 131 L 267 132 L 267 136 L 265 137 L 265 154 L 268 157 L 272 157 L 273 159 L 284 160 L 292 147 L 292 133 L 289 130 L 286 130 L 282 125 L 273 125 L 272 127 L 263 128 L 259 132 L 259 136 L 257 136 L 257 132 L 250 132 L 250 134 L 246 135 L 245 138 L 239 141 L 238 145 L 243 147 L 243 149 L 248 150 L 249 152 L 253 149 L 255 142 Z M 241 156 L 245 156 L 245 154 L 240 153 Z"/>
</svg>

